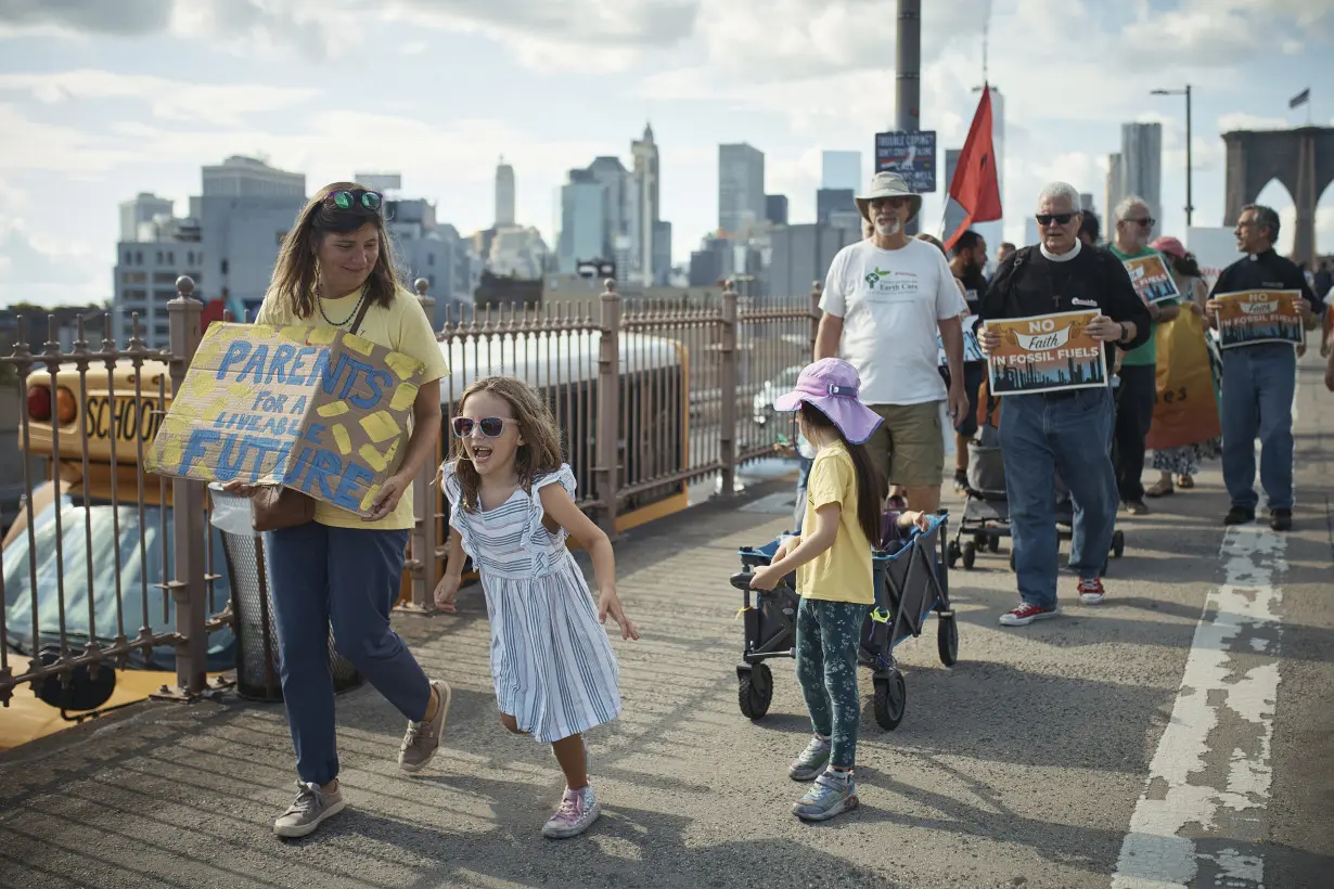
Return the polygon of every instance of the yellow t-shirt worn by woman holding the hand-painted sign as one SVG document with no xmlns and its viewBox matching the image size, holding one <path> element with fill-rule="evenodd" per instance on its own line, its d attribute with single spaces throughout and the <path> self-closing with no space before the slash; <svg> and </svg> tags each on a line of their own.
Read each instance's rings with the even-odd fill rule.
<svg viewBox="0 0 1334 889">
<path fill-rule="evenodd" d="M 332 325 L 324 320 L 319 308 L 315 309 L 311 317 L 299 319 L 285 303 L 272 299 L 273 295 L 268 293 L 264 296 L 264 304 L 260 305 L 259 313 L 255 316 L 255 324 L 340 327 L 346 331 L 352 327 L 352 316 L 360 296 L 360 292 L 356 292 L 338 300 L 323 300 L 324 313 L 335 321 L 343 321 L 343 324 Z M 444 356 L 440 353 L 440 344 L 435 340 L 435 332 L 431 329 L 431 321 L 426 317 L 426 311 L 418 303 L 416 296 L 403 288 L 398 289 L 388 308 L 372 305 L 367 309 L 366 317 L 362 320 L 362 327 L 356 332 L 376 345 L 403 352 L 424 364 L 423 383 L 450 376 L 450 365 L 446 364 Z M 395 458 L 395 472 L 407 453 L 407 436 L 411 436 L 411 424 L 408 424 L 408 429 L 403 433 L 404 441 L 399 445 L 399 453 Z M 375 530 L 402 530 L 411 528 L 414 524 L 412 490 L 403 492 L 394 514 L 386 516 L 379 521 L 364 521 L 355 512 L 321 501 L 316 501 L 315 504 L 315 521 L 321 525 L 334 525 L 335 528 L 368 528 Z"/>
</svg>

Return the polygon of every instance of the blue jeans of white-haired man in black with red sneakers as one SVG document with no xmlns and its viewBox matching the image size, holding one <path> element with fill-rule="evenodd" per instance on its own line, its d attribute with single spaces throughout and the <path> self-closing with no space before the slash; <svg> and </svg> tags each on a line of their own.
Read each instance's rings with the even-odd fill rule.
<svg viewBox="0 0 1334 889">
<path fill-rule="evenodd" d="M 1000 456 L 1014 568 L 1019 596 L 1030 605 L 1057 606 L 1057 473 L 1074 504 L 1070 565 L 1083 578 L 1102 574 L 1117 524 L 1114 425 L 1110 389 L 1009 395 L 1000 400 Z"/>
</svg>

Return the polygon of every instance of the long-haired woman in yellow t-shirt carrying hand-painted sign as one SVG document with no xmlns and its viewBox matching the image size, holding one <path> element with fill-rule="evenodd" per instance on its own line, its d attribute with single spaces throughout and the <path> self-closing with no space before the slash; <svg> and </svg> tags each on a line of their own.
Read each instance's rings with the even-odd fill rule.
<svg viewBox="0 0 1334 889">
<path fill-rule="evenodd" d="M 412 488 L 440 435 L 440 379 L 450 369 L 416 297 L 399 287 L 382 213 L 383 196 L 356 183 L 325 185 L 283 241 L 256 324 L 356 328 L 378 345 L 426 367 L 403 433 L 398 466 L 368 517 L 319 502 L 304 525 L 264 533 L 280 677 L 296 746 L 296 801 L 273 824 L 281 837 L 304 837 L 343 810 L 334 733 L 334 642 L 408 720 L 399 750 L 406 772 L 435 754 L 450 708 L 450 686 L 430 681 L 390 626 L 412 528 Z M 229 490 L 253 488 L 229 482 Z"/>
</svg>

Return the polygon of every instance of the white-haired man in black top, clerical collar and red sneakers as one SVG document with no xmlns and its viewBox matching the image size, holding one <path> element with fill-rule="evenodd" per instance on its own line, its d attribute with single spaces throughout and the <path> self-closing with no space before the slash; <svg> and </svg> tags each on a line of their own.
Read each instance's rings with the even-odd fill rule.
<svg viewBox="0 0 1334 889">
<path fill-rule="evenodd" d="M 986 320 L 1022 319 L 1098 309 L 1087 332 L 1113 348 L 1133 349 L 1149 339 L 1149 308 L 1126 268 L 1107 251 L 1078 239 L 1079 192 L 1053 183 L 1038 197 L 1042 244 L 1026 247 L 996 269 L 982 300 Z M 987 352 L 1000 344 L 995 331 L 979 337 Z M 1107 368 L 1113 365 L 1107 356 Z M 1022 604 L 1000 616 L 1005 626 L 1055 617 L 1059 540 L 1055 476 L 1074 501 L 1070 565 L 1079 572 L 1079 598 L 1097 605 L 1106 593 L 1102 566 L 1117 521 L 1117 477 L 1111 465 L 1115 408 L 1109 387 L 1005 396 L 1000 454 L 1014 566 Z"/>
</svg>

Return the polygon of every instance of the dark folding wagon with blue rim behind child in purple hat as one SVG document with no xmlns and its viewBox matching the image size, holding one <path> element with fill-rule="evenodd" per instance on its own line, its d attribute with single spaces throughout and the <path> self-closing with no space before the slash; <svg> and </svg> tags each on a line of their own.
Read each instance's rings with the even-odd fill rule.
<svg viewBox="0 0 1334 889">
<path fill-rule="evenodd" d="M 871 553 L 875 577 L 875 606 L 862 624 L 858 662 L 871 668 L 875 689 L 875 721 L 892 730 L 903 721 L 907 686 L 894 660 L 894 646 L 908 636 L 922 634 L 926 618 L 936 613 L 936 648 L 940 662 L 954 666 L 959 658 L 959 628 L 950 608 L 948 572 L 944 568 L 947 516 L 942 512 L 927 530 L 914 528 L 903 540 L 882 540 L 884 548 Z M 774 698 L 771 657 L 795 657 L 796 577 L 788 574 L 771 590 L 751 590 L 756 566 L 768 565 L 779 540 L 763 546 L 743 546 L 738 554 L 743 570 L 732 574 L 732 586 L 742 590 L 746 646 L 736 665 L 738 704 L 751 720 L 762 718 Z M 751 594 L 755 604 L 751 605 Z"/>
</svg>

